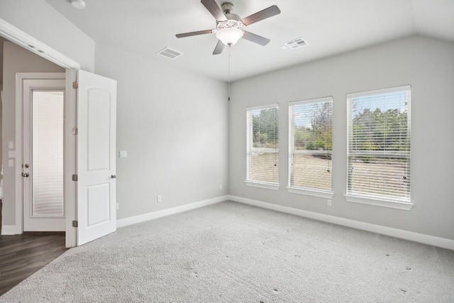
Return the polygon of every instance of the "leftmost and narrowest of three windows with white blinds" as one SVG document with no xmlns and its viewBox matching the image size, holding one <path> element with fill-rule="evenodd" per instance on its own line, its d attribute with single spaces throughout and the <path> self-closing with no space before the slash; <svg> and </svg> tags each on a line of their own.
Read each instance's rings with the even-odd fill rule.
<svg viewBox="0 0 454 303">
<path fill-rule="evenodd" d="M 249 108 L 246 117 L 246 184 L 279 189 L 278 106 Z"/>
</svg>

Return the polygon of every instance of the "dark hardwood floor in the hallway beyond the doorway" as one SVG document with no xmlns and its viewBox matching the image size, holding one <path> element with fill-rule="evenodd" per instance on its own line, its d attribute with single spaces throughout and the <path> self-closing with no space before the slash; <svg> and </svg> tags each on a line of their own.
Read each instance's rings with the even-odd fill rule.
<svg viewBox="0 0 454 303">
<path fill-rule="evenodd" d="M 0 236 L 0 296 L 66 250 L 65 233 Z"/>
</svg>

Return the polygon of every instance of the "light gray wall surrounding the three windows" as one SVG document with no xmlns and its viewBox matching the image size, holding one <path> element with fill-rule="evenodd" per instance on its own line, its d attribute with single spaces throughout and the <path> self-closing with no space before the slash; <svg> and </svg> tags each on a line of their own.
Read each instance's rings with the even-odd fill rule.
<svg viewBox="0 0 454 303">
<path fill-rule="evenodd" d="M 308 46 L 310 47 L 310 45 Z M 294 50 L 304 52 L 301 50 Z M 410 211 L 346 202 L 346 94 L 411 84 Z M 414 36 L 244 79 L 232 86 L 229 193 L 454 240 L 454 44 Z M 333 96 L 333 206 L 287 192 L 289 101 Z M 278 191 L 247 187 L 245 109 L 279 103 Z"/>
</svg>

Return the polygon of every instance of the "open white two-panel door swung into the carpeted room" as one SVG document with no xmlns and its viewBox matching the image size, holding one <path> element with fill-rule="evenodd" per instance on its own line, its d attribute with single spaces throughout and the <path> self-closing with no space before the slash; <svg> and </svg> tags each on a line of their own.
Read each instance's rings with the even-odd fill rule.
<svg viewBox="0 0 454 303">
<path fill-rule="evenodd" d="M 116 81 L 79 70 L 77 246 L 116 231 Z"/>
</svg>

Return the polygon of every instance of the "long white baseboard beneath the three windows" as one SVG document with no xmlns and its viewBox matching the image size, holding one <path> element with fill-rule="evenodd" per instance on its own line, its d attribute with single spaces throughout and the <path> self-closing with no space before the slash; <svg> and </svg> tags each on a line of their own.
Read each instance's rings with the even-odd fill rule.
<svg viewBox="0 0 454 303">
<path fill-rule="evenodd" d="M 332 224 L 338 224 L 342 226 L 348 226 L 352 228 L 361 229 L 363 231 L 371 231 L 372 233 L 380 233 L 386 236 L 392 236 L 396 238 L 402 238 L 409 241 L 415 241 L 419 243 L 428 244 L 431 246 L 438 246 L 441 248 L 448 248 L 454 250 L 454 240 L 439 238 L 436 236 L 428 236 L 423 233 L 414 233 L 412 231 L 403 231 L 402 229 L 391 228 L 386 226 L 380 226 L 350 219 L 339 218 L 337 216 L 329 216 L 326 214 L 319 214 L 312 211 L 304 211 L 301 209 L 294 209 L 292 207 L 261 202 L 253 199 L 246 199 L 236 196 L 228 196 L 228 199 L 243 204 L 249 204 L 253 206 L 262 207 L 264 209 L 272 209 L 274 211 L 281 211 L 286 214 L 294 214 L 296 216 L 303 216 L 310 219 L 324 221 Z"/>
</svg>

